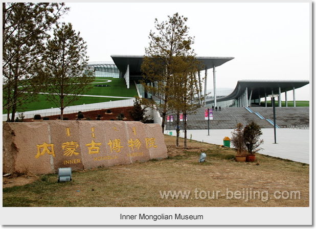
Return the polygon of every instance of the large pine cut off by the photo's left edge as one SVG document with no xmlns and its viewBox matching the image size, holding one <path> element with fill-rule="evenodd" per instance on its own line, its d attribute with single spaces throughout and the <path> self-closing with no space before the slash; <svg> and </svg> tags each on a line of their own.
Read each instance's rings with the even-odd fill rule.
<svg viewBox="0 0 316 229">
<path fill-rule="evenodd" d="M 12 112 L 39 91 L 47 32 L 69 8 L 63 3 L 3 3 L 3 109 Z"/>
</svg>

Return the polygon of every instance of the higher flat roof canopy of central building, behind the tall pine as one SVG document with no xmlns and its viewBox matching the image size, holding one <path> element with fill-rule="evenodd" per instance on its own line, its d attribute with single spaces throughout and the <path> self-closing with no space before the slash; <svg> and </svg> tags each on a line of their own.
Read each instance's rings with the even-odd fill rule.
<svg viewBox="0 0 316 229">
<path fill-rule="evenodd" d="M 141 65 L 143 63 L 144 56 L 111 55 L 111 58 L 119 68 L 122 76 L 125 75 L 128 64 L 130 76 L 142 75 Z M 196 57 L 196 59 L 205 65 L 205 69 L 209 69 L 214 66 L 220 66 L 223 63 L 234 59 L 234 57 Z"/>
</svg>

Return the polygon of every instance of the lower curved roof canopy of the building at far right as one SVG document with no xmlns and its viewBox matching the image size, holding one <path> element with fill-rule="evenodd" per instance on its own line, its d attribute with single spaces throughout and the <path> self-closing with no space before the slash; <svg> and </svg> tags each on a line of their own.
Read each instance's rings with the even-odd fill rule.
<svg viewBox="0 0 316 229">
<path fill-rule="evenodd" d="M 309 80 L 239 80 L 234 91 L 225 97 L 217 98 L 217 101 L 227 101 L 231 99 L 237 99 L 240 97 L 246 88 L 248 88 L 248 93 L 252 90 L 252 98 L 258 99 L 264 98 L 265 95 L 268 96 L 272 94 L 279 94 L 279 88 L 281 93 L 285 91 L 297 89 L 302 86 L 309 84 Z M 212 101 L 212 100 L 211 100 Z"/>
</svg>

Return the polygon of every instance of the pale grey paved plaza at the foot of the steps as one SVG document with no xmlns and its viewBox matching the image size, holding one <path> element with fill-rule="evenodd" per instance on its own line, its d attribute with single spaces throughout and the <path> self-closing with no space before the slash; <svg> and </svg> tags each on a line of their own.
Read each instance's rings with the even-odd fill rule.
<svg viewBox="0 0 316 229">
<path fill-rule="evenodd" d="M 311 133 L 309 129 L 276 129 L 277 144 L 274 144 L 273 128 L 261 130 L 263 132 L 261 139 L 264 140 L 261 147 L 264 150 L 260 150 L 258 153 L 309 164 L 311 159 Z M 175 130 L 171 131 L 172 135 L 176 135 Z M 190 140 L 190 134 L 192 134 L 192 140 L 223 145 L 223 138 L 225 136 L 231 138 L 232 131 L 233 129 L 213 129 L 208 135 L 207 129 L 188 130 L 187 139 Z M 170 134 L 170 130 L 165 130 L 165 133 Z M 180 136 L 184 137 L 183 130 L 180 130 Z"/>
</svg>

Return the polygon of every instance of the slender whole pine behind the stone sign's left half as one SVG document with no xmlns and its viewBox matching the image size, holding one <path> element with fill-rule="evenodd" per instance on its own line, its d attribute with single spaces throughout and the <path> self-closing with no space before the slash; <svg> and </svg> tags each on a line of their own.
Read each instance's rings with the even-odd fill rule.
<svg viewBox="0 0 316 229">
<path fill-rule="evenodd" d="M 77 100 L 94 80 L 93 73 L 88 71 L 86 42 L 76 33 L 72 25 L 56 26 L 54 38 L 49 39 L 43 57 L 47 75 L 48 98 L 60 108 L 60 119 L 63 110 Z"/>
</svg>

